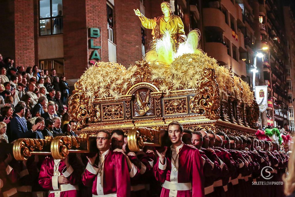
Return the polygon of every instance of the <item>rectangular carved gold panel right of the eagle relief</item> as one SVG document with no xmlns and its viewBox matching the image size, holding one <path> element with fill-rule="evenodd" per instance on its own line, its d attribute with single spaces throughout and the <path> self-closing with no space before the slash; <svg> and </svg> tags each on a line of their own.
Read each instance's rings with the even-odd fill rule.
<svg viewBox="0 0 295 197">
<path fill-rule="evenodd" d="M 187 97 L 164 98 L 164 115 L 187 114 Z"/>
</svg>

